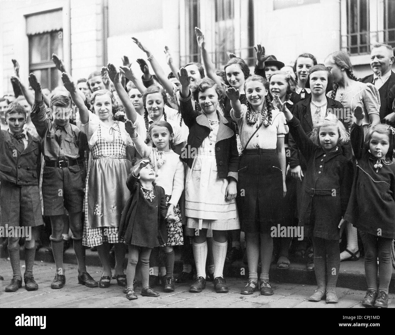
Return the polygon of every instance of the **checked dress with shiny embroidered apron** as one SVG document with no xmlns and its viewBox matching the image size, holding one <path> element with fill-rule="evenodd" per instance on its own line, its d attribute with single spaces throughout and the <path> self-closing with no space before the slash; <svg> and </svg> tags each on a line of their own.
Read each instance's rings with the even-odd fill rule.
<svg viewBox="0 0 395 335">
<path fill-rule="evenodd" d="M 110 128 L 111 143 L 102 137 L 102 131 L 99 124 L 96 143 L 90 149 L 92 164 L 85 190 L 83 245 L 89 247 L 120 242 L 119 222 L 130 194 L 126 179 L 131 163 L 126 158 L 126 143 L 119 125 L 116 122 Z"/>
</svg>

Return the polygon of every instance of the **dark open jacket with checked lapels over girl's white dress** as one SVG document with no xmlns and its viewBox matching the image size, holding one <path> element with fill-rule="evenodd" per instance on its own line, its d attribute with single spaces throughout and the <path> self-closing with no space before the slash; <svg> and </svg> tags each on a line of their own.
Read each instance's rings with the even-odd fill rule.
<svg viewBox="0 0 395 335">
<path fill-rule="evenodd" d="M 190 96 L 189 96 L 190 97 Z M 194 110 L 191 99 L 180 99 L 180 111 L 184 123 L 189 128 L 186 147 L 182 149 L 181 159 L 192 168 L 195 155 L 204 139 L 210 135 L 210 123 L 206 115 Z M 215 159 L 218 167 L 218 177 L 233 177 L 238 179 L 239 152 L 237 151 L 236 134 L 225 117 L 218 114 L 219 127 L 215 143 Z"/>
</svg>

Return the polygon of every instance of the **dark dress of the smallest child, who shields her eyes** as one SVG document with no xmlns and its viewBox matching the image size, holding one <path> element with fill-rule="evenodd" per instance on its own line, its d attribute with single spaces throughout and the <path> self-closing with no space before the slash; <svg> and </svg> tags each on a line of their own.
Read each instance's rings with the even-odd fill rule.
<svg viewBox="0 0 395 335">
<path fill-rule="evenodd" d="M 161 186 L 154 185 L 152 203 L 144 199 L 141 184 L 131 173 L 126 185 L 132 194 L 126 201 L 119 225 L 119 238 L 127 244 L 154 248 L 167 242 L 166 195 Z M 145 205 L 151 205 L 148 208 Z M 146 208 L 147 207 L 147 208 Z M 147 210 L 149 209 L 149 210 Z"/>
</svg>

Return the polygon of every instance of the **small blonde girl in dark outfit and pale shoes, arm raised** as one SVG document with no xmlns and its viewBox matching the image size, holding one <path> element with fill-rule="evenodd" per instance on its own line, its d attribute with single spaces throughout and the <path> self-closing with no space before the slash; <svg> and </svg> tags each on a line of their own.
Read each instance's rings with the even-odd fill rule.
<svg viewBox="0 0 395 335">
<path fill-rule="evenodd" d="M 340 149 L 349 141 L 344 125 L 334 115 L 316 123 L 310 138 L 299 120 L 275 95 L 274 104 L 282 111 L 290 132 L 307 161 L 306 185 L 299 215 L 305 236 L 312 236 L 317 289 L 308 298 L 337 303 L 336 283 L 340 268 L 338 225 L 346 212 L 353 175 L 352 163 Z"/>
</svg>

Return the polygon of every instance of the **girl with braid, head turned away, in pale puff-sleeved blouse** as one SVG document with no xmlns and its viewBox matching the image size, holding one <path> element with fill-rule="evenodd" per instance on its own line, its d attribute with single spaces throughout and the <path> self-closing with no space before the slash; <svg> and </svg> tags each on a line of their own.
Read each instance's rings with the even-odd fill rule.
<svg viewBox="0 0 395 335">
<path fill-rule="evenodd" d="M 340 101 L 344 106 L 343 119 L 348 121 L 346 129 L 351 128 L 352 112 L 361 107 L 365 118 L 362 121 L 366 135 L 370 124 L 380 123 L 380 93 L 371 83 L 362 83 L 352 72 L 350 57 L 343 51 L 336 51 L 327 56 L 325 66 L 329 68 L 333 78 L 333 90 L 328 93 L 332 99 Z M 359 259 L 357 229 L 346 224 L 347 248 L 340 254 L 340 261 Z"/>
</svg>

